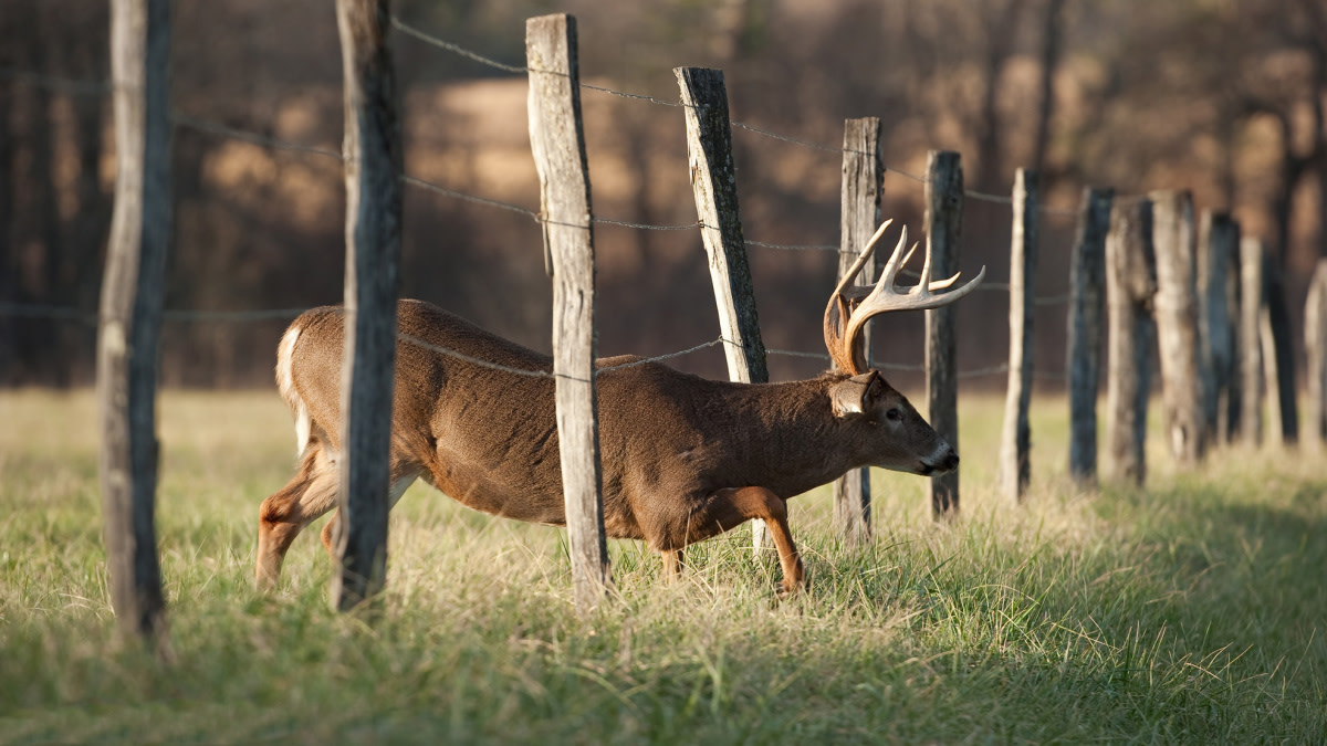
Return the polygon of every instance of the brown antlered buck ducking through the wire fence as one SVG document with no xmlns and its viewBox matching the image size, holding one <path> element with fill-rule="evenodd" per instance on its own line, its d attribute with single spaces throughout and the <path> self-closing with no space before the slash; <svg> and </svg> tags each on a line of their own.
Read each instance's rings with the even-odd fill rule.
<svg viewBox="0 0 1327 746">
<path fill-rule="evenodd" d="M 954 447 L 865 360 L 869 319 L 938 308 L 978 287 L 959 275 L 916 285 L 897 276 L 906 227 L 874 285 L 855 284 L 886 220 L 831 293 L 824 341 L 835 369 L 816 378 L 742 384 L 679 372 L 636 356 L 596 360 L 604 531 L 658 552 L 665 581 L 683 550 L 747 520 L 763 520 L 779 554 L 780 596 L 805 584 L 788 528 L 790 498 L 864 466 L 937 475 Z M 947 291 L 947 292 L 938 292 Z M 552 358 L 418 300 L 397 305 L 390 488 L 394 506 L 417 479 L 471 508 L 565 526 Z M 295 538 L 337 502 L 342 458 L 344 312 L 304 312 L 277 346 L 276 380 L 296 423 L 295 477 L 259 511 L 259 588 L 277 584 Z M 528 374 L 525 374 L 528 373 Z M 390 510 L 390 508 L 389 508 Z M 338 518 L 322 530 L 334 555 Z"/>
</svg>

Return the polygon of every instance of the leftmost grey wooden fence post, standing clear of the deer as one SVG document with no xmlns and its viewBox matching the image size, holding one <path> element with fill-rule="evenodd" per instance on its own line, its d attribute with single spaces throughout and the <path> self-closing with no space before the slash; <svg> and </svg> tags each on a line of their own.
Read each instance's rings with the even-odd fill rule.
<svg viewBox="0 0 1327 746">
<path fill-rule="evenodd" d="M 113 0 L 115 208 L 97 333 L 102 520 L 119 636 L 169 654 L 157 556 L 157 362 L 171 235 L 170 1 Z"/>
</svg>

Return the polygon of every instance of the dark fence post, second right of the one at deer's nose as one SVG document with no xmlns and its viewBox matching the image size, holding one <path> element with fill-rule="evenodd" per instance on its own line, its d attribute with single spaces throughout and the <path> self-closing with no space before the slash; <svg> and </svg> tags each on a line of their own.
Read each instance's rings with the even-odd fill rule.
<svg viewBox="0 0 1327 746">
<path fill-rule="evenodd" d="M 1083 191 L 1078 238 L 1070 256 L 1068 372 L 1070 475 L 1096 485 L 1096 398 L 1101 384 L 1101 307 L 1105 234 L 1113 188 Z"/>
</svg>

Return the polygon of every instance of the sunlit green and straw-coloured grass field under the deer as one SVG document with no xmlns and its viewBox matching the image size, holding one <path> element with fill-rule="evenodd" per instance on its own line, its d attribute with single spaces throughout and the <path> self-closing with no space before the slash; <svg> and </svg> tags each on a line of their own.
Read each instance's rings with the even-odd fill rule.
<svg viewBox="0 0 1327 746">
<path fill-rule="evenodd" d="M 1327 455 L 1153 445 L 1145 491 L 1075 491 L 1063 400 L 1034 485 L 994 494 L 1002 401 L 961 398 L 963 514 L 877 473 L 876 540 L 791 503 L 811 587 L 776 603 L 750 531 L 657 558 L 612 543 L 580 619 L 564 534 L 414 487 L 372 628 L 328 609 L 312 535 L 251 589 L 257 504 L 289 475 L 275 392 L 167 392 L 157 530 L 175 661 L 115 649 L 88 393 L 0 393 L 3 743 L 1323 743 Z M 1157 438 L 1153 438 L 1156 441 Z"/>
</svg>

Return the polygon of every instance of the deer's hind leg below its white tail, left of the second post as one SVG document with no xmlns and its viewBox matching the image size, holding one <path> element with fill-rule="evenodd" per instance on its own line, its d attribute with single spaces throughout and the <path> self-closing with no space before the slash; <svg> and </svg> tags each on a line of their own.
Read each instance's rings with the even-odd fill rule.
<svg viewBox="0 0 1327 746">
<path fill-rule="evenodd" d="M 253 571 L 259 588 L 276 585 L 291 542 L 336 504 L 340 475 L 336 454 L 329 451 L 324 441 L 311 441 L 295 477 L 263 500 L 257 522 L 257 565 Z"/>
</svg>

